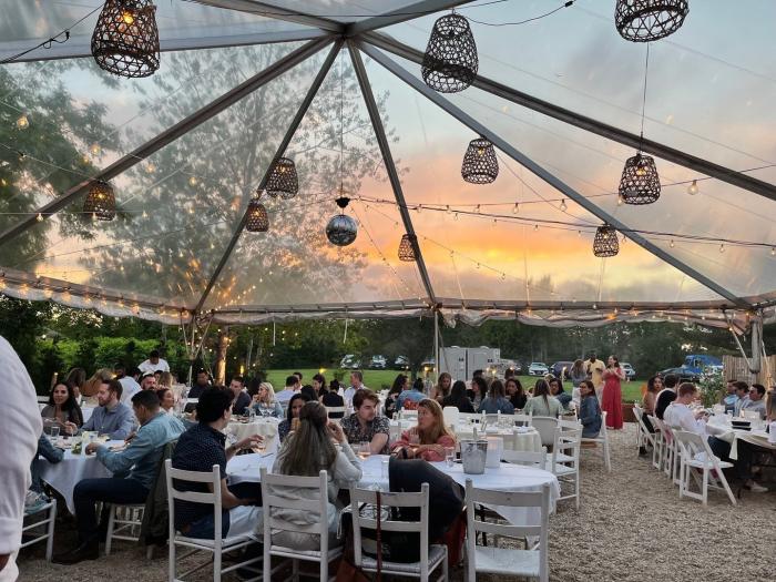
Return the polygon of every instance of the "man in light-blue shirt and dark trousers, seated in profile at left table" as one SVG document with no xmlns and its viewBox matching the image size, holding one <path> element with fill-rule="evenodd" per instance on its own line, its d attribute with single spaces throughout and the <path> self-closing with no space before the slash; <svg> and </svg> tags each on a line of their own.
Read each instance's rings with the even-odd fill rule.
<svg viewBox="0 0 776 582">
<path fill-rule="evenodd" d="M 183 433 L 183 425 L 172 415 L 159 408 L 156 392 L 143 390 L 132 397 L 132 408 L 140 429 L 126 449 L 112 451 L 105 445 L 90 442 L 86 455 L 96 453 L 96 461 L 105 466 L 113 477 L 84 479 L 73 490 L 78 545 L 55 554 L 54 563 L 75 564 L 83 560 L 96 560 L 100 534 L 94 504 L 144 503 L 159 470 L 165 445 Z"/>
</svg>

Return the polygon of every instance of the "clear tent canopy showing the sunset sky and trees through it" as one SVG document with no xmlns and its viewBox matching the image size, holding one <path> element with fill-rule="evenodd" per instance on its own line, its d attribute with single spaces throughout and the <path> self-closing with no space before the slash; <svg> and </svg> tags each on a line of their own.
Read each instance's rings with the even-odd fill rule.
<svg viewBox="0 0 776 582">
<path fill-rule="evenodd" d="M 132 80 L 91 57 L 102 1 L 0 3 L 4 294 L 170 324 L 773 318 L 773 2 L 692 2 L 649 43 L 646 92 L 647 48 L 620 37 L 614 1 L 521 23 L 563 2 L 157 0 L 161 67 Z M 442 94 L 420 63 L 453 8 L 479 72 Z M 642 119 L 662 194 L 632 206 L 617 184 Z M 490 184 L 461 177 L 480 136 Z M 299 192 L 262 196 L 269 228 L 247 232 L 280 156 Z M 83 212 L 95 181 L 115 191 L 111 222 Z M 325 233 L 340 212 L 358 226 L 346 247 Z M 603 224 L 609 258 L 592 252 Z"/>
</svg>

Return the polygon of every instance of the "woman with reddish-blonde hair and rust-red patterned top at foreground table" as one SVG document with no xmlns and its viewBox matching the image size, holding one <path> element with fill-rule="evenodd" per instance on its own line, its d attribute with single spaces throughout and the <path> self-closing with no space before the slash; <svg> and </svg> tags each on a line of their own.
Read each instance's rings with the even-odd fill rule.
<svg viewBox="0 0 776 582">
<path fill-rule="evenodd" d="M 445 426 L 442 407 L 425 398 L 418 404 L 418 425 L 401 433 L 390 446 L 394 455 L 405 459 L 443 461 L 445 449 L 456 446 L 456 437 Z"/>
</svg>

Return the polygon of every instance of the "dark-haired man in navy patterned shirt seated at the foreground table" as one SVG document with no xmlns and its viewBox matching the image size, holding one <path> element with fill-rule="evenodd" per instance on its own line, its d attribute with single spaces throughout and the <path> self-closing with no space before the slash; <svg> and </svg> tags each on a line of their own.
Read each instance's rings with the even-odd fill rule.
<svg viewBox="0 0 776 582">
<path fill-rule="evenodd" d="M 224 429 L 232 419 L 233 399 L 231 390 L 208 388 L 202 392 L 196 405 L 197 423 L 181 435 L 172 458 L 173 467 L 184 471 L 211 472 L 214 464 L 221 468 L 221 530 L 224 538 L 251 533 L 262 512 L 262 508 L 254 504 L 257 499 L 241 499 L 226 484 L 229 459 L 263 440 L 254 435 L 226 447 Z M 213 492 L 211 483 L 180 481 L 175 484 L 181 491 Z M 188 538 L 214 539 L 213 506 L 176 499 L 175 529 Z"/>
</svg>

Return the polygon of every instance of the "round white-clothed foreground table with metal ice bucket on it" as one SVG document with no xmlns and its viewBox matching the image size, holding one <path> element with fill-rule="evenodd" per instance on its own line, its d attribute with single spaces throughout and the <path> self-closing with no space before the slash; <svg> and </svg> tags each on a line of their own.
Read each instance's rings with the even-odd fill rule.
<svg viewBox="0 0 776 582">
<path fill-rule="evenodd" d="M 387 455 L 372 455 L 363 461 L 361 469 L 364 474 L 358 484 L 360 487 L 376 487 L 387 490 L 388 474 L 384 471 L 382 463 L 388 458 Z M 275 455 L 254 453 L 237 456 L 226 466 L 226 474 L 231 484 L 245 481 L 258 482 L 261 481 L 259 469 L 266 467 L 269 470 L 273 462 L 275 462 Z M 431 464 L 464 487 L 467 479 L 471 479 L 474 487 L 493 491 L 539 491 L 544 483 L 549 483 L 551 512 L 554 512 L 555 501 L 561 493 L 560 483 L 554 474 L 533 467 L 501 463 L 498 469 L 486 469 L 486 472 L 482 474 L 466 474 L 463 466 L 460 463 L 455 463 L 452 467 L 448 467 L 446 462 L 433 462 Z M 491 509 L 514 524 L 537 523 L 539 521 L 539 510 L 537 509 L 532 509 L 530 513 L 525 508 L 491 507 Z"/>
</svg>

